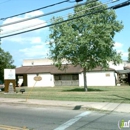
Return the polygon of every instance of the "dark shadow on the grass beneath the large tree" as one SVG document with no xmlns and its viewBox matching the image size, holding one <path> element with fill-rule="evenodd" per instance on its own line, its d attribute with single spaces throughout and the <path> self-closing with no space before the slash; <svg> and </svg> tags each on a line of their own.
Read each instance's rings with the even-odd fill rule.
<svg viewBox="0 0 130 130">
<path fill-rule="evenodd" d="M 101 91 L 106 91 L 106 90 L 88 88 L 87 92 L 101 92 Z M 84 88 L 74 88 L 74 89 L 69 89 L 69 90 L 63 90 L 63 92 L 85 92 L 85 91 L 84 91 Z"/>
</svg>

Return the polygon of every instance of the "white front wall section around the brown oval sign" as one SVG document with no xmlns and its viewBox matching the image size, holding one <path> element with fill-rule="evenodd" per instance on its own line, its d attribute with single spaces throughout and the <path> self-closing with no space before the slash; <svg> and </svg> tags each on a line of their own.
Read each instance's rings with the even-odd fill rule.
<svg viewBox="0 0 130 130">
<path fill-rule="evenodd" d="M 51 74 L 39 74 L 42 77 L 41 81 L 35 81 L 34 77 L 36 74 L 28 74 L 28 87 L 53 87 L 54 86 L 54 77 Z M 35 84 L 36 83 L 36 84 Z"/>
</svg>

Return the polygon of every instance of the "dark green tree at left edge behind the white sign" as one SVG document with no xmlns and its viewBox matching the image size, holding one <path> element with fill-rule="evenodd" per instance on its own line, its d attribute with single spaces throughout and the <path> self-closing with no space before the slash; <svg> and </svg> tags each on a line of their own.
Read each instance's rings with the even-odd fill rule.
<svg viewBox="0 0 130 130">
<path fill-rule="evenodd" d="M 15 65 L 13 65 L 14 60 L 9 52 L 5 52 L 0 48 L 0 80 L 4 80 L 4 69 L 13 69 Z"/>
</svg>

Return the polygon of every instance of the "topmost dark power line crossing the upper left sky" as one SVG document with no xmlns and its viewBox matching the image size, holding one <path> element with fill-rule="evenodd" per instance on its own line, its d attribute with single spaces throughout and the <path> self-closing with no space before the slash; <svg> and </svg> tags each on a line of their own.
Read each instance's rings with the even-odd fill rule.
<svg viewBox="0 0 130 130">
<path fill-rule="evenodd" d="M 31 12 L 34 12 L 34 11 L 37 11 L 37 10 L 45 9 L 45 8 L 52 7 L 52 6 L 55 6 L 55 5 L 59 5 L 59 4 L 65 3 L 65 2 L 69 2 L 69 0 L 65 0 L 65 1 L 61 1 L 61 2 L 55 3 L 55 4 L 47 5 L 47 6 L 38 8 L 38 9 L 34 9 L 34 10 L 27 11 L 27 12 L 24 12 L 24 13 L 12 15 L 12 16 L 9 16 L 9 17 L 6 17 L 6 18 L 1 18 L 0 20 L 6 20 L 8 18 L 16 17 L 16 16 L 23 15 L 23 14 L 26 14 L 26 13 L 31 13 Z"/>
</svg>

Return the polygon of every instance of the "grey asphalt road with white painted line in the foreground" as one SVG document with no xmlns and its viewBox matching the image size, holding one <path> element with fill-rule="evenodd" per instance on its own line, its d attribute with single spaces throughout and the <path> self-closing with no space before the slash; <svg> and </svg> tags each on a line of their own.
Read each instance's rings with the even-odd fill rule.
<svg viewBox="0 0 130 130">
<path fill-rule="evenodd" d="M 0 104 L 0 130 L 9 126 L 29 130 L 119 130 L 122 120 L 128 122 L 130 113 Z"/>
</svg>

